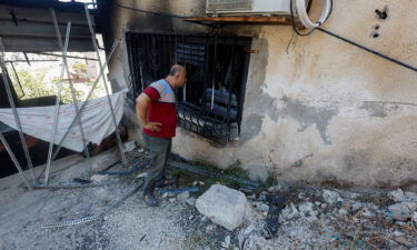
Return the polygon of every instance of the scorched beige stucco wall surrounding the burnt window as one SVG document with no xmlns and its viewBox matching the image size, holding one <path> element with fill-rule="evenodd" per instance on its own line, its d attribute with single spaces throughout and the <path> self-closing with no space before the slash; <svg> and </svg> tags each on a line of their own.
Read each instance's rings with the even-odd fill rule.
<svg viewBox="0 0 417 250">
<path fill-rule="evenodd" d="M 205 1 L 121 2 L 187 16 L 203 14 L 205 8 Z M 375 10 L 385 6 L 388 18 L 379 20 Z M 324 28 L 417 67 L 416 9 L 411 0 L 335 0 Z M 115 33 L 121 27 L 203 31 L 142 17 L 115 10 Z M 379 37 L 373 38 L 376 24 Z M 225 31 L 252 36 L 252 49 L 260 51 L 250 59 L 240 140 L 221 148 L 178 128 L 175 152 L 221 168 L 240 160 L 261 178 L 272 173 L 287 181 L 351 188 L 416 184 L 416 72 L 320 31 L 292 40 L 290 27 L 231 26 Z M 121 84 L 127 70 L 126 54 L 119 52 L 113 82 Z"/>
</svg>

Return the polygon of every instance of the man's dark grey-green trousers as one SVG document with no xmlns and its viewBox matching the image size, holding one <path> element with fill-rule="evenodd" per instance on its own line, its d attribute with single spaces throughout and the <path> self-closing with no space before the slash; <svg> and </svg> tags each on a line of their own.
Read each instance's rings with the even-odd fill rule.
<svg viewBox="0 0 417 250">
<path fill-rule="evenodd" d="M 143 192 L 152 192 L 156 182 L 165 178 L 165 170 L 168 156 L 171 152 L 172 139 L 156 138 L 143 133 L 143 140 L 150 153 L 150 163 L 143 183 Z"/>
</svg>

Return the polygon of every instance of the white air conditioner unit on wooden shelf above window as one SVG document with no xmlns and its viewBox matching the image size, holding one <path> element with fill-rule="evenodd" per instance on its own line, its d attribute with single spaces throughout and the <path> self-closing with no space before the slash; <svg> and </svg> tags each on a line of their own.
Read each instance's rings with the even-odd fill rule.
<svg viewBox="0 0 417 250">
<path fill-rule="evenodd" d="M 208 14 L 290 14 L 290 0 L 207 0 Z"/>
</svg>

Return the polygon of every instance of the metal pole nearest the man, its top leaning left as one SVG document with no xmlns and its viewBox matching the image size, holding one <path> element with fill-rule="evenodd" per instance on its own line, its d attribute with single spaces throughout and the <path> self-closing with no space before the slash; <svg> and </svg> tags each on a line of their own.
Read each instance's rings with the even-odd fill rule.
<svg viewBox="0 0 417 250">
<path fill-rule="evenodd" d="M 88 27 L 90 28 L 90 33 L 91 33 L 91 41 L 92 41 L 92 44 L 95 47 L 95 50 L 96 50 L 96 54 L 97 54 L 97 59 L 99 60 L 99 66 L 100 66 L 100 69 L 102 70 L 102 66 L 101 66 L 101 59 L 100 59 L 100 53 L 99 53 L 99 47 L 97 44 L 97 40 L 96 40 L 96 32 L 92 28 L 92 23 L 91 23 L 91 17 L 90 17 L 90 12 L 88 10 L 88 7 L 87 4 L 85 4 L 85 10 L 86 10 L 86 17 L 87 17 L 87 22 L 88 22 Z M 121 139 L 120 139 L 120 133 L 118 131 L 118 123 L 116 121 L 116 116 L 115 116 L 115 110 L 113 110 L 113 107 L 111 104 L 111 100 L 110 100 L 110 96 L 109 96 L 109 89 L 107 87 L 107 80 L 106 80 L 106 77 L 105 74 L 101 76 L 102 77 L 102 81 L 103 81 L 103 84 L 105 84 L 105 89 L 106 89 L 106 96 L 107 96 L 107 101 L 109 103 L 109 107 L 110 107 L 110 112 L 111 112 L 111 118 L 113 120 L 113 124 L 115 124 L 115 133 L 116 133 L 116 139 L 117 139 L 117 144 L 119 147 L 119 150 L 120 150 L 120 156 L 121 156 L 121 162 L 123 163 L 125 167 L 128 166 L 128 162 L 126 160 L 126 156 L 125 156 L 125 151 L 123 151 L 123 146 L 121 143 Z"/>
</svg>

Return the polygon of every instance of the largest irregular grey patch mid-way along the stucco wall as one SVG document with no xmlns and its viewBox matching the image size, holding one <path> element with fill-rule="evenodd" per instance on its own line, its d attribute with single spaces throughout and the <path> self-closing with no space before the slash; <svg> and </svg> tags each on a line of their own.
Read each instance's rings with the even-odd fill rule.
<svg viewBox="0 0 417 250">
<path fill-rule="evenodd" d="M 295 119 L 299 124 L 298 131 L 305 131 L 309 126 L 315 124 L 321 140 L 326 144 L 331 144 L 330 137 L 327 134 L 327 127 L 334 116 L 338 113 L 336 107 L 317 108 L 306 106 L 301 101 L 292 101 L 286 97 L 281 99 L 285 108 L 280 111 L 284 116 Z"/>
</svg>

